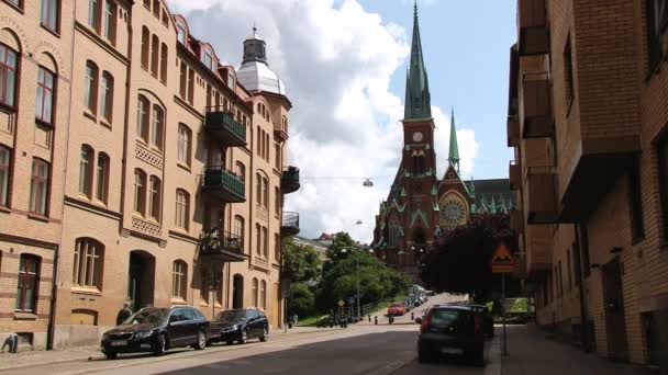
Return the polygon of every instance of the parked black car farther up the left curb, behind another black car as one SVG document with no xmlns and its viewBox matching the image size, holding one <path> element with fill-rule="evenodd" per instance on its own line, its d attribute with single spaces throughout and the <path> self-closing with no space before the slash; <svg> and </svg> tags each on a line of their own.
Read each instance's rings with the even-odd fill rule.
<svg viewBox="0 0 668 375">
<path fill-rule="evenodd" d="M 269 339 L 269 321 L 265 314 L 255 308 L 225 310 L 220 312 L 211 322 L 209 330 L 210 342 L 234 341 L 243 344 L 249 339 L 267 341 Z"/>
</svg>

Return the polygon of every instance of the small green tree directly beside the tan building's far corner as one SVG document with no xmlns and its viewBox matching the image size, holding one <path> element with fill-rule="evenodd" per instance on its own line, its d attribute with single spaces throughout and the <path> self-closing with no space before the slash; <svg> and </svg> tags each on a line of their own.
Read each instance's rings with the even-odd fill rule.
<svg viewBox="0 0 668 375">
<path fill-rule="evenodd" d="M 285 273 L 293 283 L 320 279 L 321 261 L 310 246 L 294 243 L 290 238 L 283 243 Z"/>
</svg>

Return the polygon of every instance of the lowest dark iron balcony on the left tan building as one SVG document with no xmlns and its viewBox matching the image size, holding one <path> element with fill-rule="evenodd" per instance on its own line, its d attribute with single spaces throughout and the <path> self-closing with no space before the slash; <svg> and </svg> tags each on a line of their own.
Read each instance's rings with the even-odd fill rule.
<svg viewBox="0 0 668 375">
<path fill-rule="evenodd" d="M 220 228 L 203 229 L 200 235 L 200 255 L 222 262 L 243 262 L 244 239 Z"/>
</svg>

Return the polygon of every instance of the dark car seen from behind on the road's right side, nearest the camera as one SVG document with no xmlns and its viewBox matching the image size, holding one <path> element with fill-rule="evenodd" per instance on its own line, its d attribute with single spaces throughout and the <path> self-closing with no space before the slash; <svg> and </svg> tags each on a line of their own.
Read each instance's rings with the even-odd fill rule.
<svg viewBox="0 0 668 375">
<path fill-rule="evenodd" d="M 485 364 L 482 316 L 465 306 L 432 306 L 420 327 L 417 360 L 426 362 L 438 355 L 463 355 L 476 365 Z"/>
</svg>

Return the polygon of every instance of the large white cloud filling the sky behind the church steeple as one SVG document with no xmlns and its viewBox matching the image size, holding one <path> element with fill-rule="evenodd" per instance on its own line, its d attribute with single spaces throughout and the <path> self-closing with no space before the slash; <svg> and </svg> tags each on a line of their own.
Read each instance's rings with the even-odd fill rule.
<svg viewBox="0 0 668 375">
<path fill-rule="evenodd" d="M 390 80 L 409 56 L 407 31 L 365 11 L 357 0 L 169 4 L 186 15 L 196 37 L 213 44 L 219 58 L 233 65 L 241 63 L 242 42 L 257 24 L 269 64 L 294 105 L 288 150 L 290 163 L 301 169 L 302 188 L 287 197 L 286 209 L 300 213 L 307 237 L 346 230 L 370 241 L 378 204 L 389 191 L 403 146 L 402 99 L 390 92 Z M 443 173 L 449 116 L 438 107 L 433 113 Z M 472 130 L 457 128 L 463 174 L 468 177 L 478 145 Z M 363 188 L 366 177 L 375 177 L 374 189 Z"/>
</svg>

